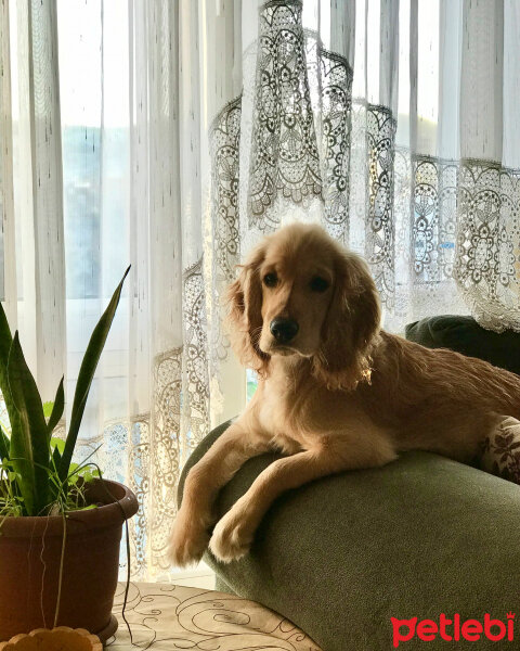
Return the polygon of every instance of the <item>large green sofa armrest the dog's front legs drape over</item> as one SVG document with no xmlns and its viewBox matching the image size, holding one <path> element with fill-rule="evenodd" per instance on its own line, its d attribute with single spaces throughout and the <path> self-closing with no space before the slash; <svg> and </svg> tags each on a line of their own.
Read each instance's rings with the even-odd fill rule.
<svg viewBox="0 0 520 651">
<path fill-rule="evenodd" d="M 227 425 L 194 451 L 179 497 L 188 468 Z M 218 512 L 276 458 L 249 460 L 221 492 Z M 520 593 L 519 540 L 519 486 L 437 455 L 408 452 L 385 468 L 288 492 L 269 510 L 249 554 L 227 565 L 210 553 L 205 560 L 221 587 L 282 613 L 324 651 L 375 651 L 393 649 L 392 616 L 439 622 L 441 613 L 458 613 L 482 621 L 491 613 L 505 620 Z M 498 648 L 486 639 L 477 646 Z M 424 648 L 417 638 L 400 646 Z"/>
</svg>

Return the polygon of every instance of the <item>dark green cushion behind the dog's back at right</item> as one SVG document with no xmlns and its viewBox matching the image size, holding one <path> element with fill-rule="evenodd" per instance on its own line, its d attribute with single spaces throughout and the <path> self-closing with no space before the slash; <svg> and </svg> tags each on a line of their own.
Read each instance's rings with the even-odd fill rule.
<svg viewBox="0 0 520 651">
<path fill-rule="evenodd" d="M 428 348 L 451 348 L 520 374 L 520 333 L 492 332 L 472 317 L 440 316 L 408 323 L 406 339 Z"/>
</svg>

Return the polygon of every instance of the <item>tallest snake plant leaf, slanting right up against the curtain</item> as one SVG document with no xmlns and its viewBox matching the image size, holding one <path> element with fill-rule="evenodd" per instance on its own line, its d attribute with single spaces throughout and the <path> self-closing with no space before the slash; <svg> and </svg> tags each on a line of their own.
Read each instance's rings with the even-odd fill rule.
<svg viewBox="0 0 520 651">
<path fill-rule="evenodd" d="M 95 369 L 98 367 L 98 362 L 100 361 L 101 353 L 105 345 L 106 337 L 108 336 L 112 321 L 114 320 L 114 316 L 119 304 L 122 284 L 129 271 L 130 267 L 128 267 L 128 269 L 125 271 L 125 276 L 121 279 L 121 282 L 117 285 L 117 289 L 114 292 L 114 295 L 112 296 L 107 308 L 105 309 L 101 319 L 99 320 L 98 326 L 94 328 L 92 336 L 89 341 L 89 345 L 87 346 L 87 350 L 84 352 L 81 368 L 79 369 L 76 392 L 74 394 L 73 410 L 70 412 L 70 424 L 68 429 L 67 439 L 65 443 L 65 449 L 63 451 L 62 460 L 60 463 L 60 480 L 62 481 L 62 483 L 65 483 L 68 476 L 68 468 L 73 459 L 74 448 L 76 447 L 79 425 L 81 424 L 81 418 L 83 416 L 84 406 L 89 396 L 90 386 L 92 384 Z M 66 489 L 66 486 L 64 486 L 64 489 Z"/>
</svg>

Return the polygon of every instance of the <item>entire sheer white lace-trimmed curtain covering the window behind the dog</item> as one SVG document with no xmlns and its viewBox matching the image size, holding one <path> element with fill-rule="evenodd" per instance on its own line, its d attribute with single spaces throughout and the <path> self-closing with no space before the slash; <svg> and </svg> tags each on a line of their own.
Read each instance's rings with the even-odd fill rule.
<svg viewBox="0 0 520 651">
<path fill-rule="evenodd" d="M 180 469 L 245 404 L 221 296 L 264 233 L 362 253 L 393 331 L 520 330 L 515 0 L 0 10 L 0 289 L 46 399 L 132 264 L 77 456 L 139 497 L 135 577 L 167 575 Z"/>
</svg>

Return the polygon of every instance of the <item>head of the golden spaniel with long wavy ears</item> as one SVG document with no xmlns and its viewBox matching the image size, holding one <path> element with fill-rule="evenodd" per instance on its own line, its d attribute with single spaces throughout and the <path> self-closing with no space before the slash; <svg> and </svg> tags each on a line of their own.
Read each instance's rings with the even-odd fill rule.
<svg viewBox="0 0 520 651">
<path fill-rule="evenodd" d="M 352 388 L 369 369 L 379 331 L 366 264 L 317 226 L 294 224 L 265 238 L 230 286 L 235 349 L 265 374 L 271 357 L 309 358 L 330 388 Z"/>
</svg>

